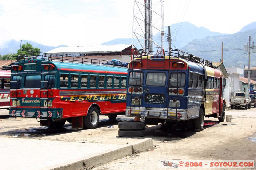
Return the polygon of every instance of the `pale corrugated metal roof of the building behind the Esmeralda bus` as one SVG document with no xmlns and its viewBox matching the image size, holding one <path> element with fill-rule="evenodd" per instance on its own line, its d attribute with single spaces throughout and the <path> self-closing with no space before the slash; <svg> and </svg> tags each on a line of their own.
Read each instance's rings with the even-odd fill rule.
<svg viewBox="0 0 256 170">
<path fill-rule="evenodd" d="M 76 47 L 58 47 L 46 53 L 50 54 L 84 54 L 84 53 L 106 53 L 121 52 L 125 48 L 132 46 L 131 44 L 119 45 L 99 45 L 99 46 L 76 46 Z"/>
</svg>

